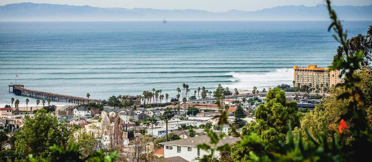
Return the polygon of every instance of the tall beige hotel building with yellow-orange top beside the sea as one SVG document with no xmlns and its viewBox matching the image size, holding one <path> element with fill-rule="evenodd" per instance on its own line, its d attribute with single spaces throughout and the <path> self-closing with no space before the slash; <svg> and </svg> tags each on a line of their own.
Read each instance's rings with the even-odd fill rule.
<svg viewBox="0 0 372 162">
<path fill-rule="evenodd" d="M 295 85 L 298 83 L 302 85 L 310 85 L 311 88 L 315 88 L 317 85 L 323 84 L 331 86 L 340 82 L 340 71 L 339 70 L 330 70 L 328 68 L 318 68 L 317 65 L 309 65 L 308 67 L 293 67 L 293 80 Z"/>
</svg>

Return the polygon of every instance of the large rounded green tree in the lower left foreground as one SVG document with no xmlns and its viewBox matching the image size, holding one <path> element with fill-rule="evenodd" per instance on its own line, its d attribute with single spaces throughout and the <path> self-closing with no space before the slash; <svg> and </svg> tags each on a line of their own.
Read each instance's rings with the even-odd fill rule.
<svg viewBox="0 0 372 162">
<path fill-rule="evenodd" d="M 22 134 L 16 136 L 16 152 L 23 156 L 31 153 L 35 157 L 51 158 L 48 148 L 54 144 L 66 148 L 69 134 L 65 124 L 40 109 L 32 118 L 26 115 Z"/>
</svg>

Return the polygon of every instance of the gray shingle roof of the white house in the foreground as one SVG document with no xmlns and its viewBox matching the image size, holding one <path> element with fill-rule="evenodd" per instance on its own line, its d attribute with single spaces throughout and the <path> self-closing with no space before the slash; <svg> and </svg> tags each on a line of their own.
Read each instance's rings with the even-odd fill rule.
<svg viewBox="0 0 372 162">
<path fill-rule="evenodd" d="M 179 139 L 174 141 L 167 141 L 167 142 L 161 142 L 160 144 L 165 145 L 183 145 L 183 146 L 197 146 L 199 144 L 209 144 L 211 139 L 207 135 L 202 136 L 196 136 L 196 137 L 190 137 L 186 139 Z M 212 146 L 212 148 L 217 148 L 219 146 L 222 146 L 224 144 L 234 144 L 235 142 L 240 141 L 240 138 L 237 137 L 224 137 L 224 139 L 219 140 L 218 144 L 216 146 Z"/>
</svg>

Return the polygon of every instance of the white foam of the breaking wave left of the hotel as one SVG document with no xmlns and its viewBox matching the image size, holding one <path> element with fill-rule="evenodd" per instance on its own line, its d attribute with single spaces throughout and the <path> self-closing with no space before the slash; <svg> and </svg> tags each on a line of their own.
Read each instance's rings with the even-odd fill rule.
<svg viewBox="0 0 372 162">
<path fill-rule="evenodd" d="M 259 90 L 262 90 L 279 84 L 292 84 L 293 69 L 279 68 L 275 71 L 262 73 L 228 72 L 226 75 L 232 75 L 231 81 L 234 82 L 224 84 L 224 87 L 251 90 L 256 86 Z"/>
</svg>

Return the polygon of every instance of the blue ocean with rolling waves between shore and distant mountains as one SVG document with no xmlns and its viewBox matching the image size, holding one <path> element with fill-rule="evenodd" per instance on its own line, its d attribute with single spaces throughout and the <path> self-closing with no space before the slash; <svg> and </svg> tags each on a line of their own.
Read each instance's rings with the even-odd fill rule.
<svg viewBox="0 0 372 162">
<path fill-rule="evenodd" d="M 327 67 L 339 45 L 329 21 L 0 22 L 0 107 L 8 85 L 107 99 L 188 84 L 259 90 L 292 84 L 293 66 Z M 345 21 L 348 37 L 372 21 Z M 198 93 L 196 94 L 198 95 Z M 29 106 L 36 105 L 30 98 Z M 165 98 L 164 98 L 165 101 Z M 53 102 L 59 105 L 61 103 Z"/>
</svg>

